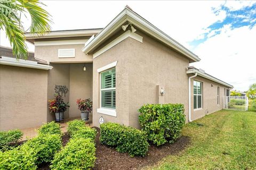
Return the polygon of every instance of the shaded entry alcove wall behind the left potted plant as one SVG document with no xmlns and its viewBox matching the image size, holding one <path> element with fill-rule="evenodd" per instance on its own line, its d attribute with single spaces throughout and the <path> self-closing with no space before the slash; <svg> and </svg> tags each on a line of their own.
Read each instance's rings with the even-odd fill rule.
<svg viewBox="0 0 256 170">
<path fill-rule="evenodd" d="M 48 86 L 47 86 L 47 100 L 54 98 L 54 87 L 55 85 L 66 85 L 69 88 L 69 64 L 51 64 L 53 68 L 48 72 Z M 65 102 L 69 102 L 70 91 L 63 96 Z M 64 117 L 69 117 L 69 109 L 64 113 Z M 55 120 L 55 115 L 51 114 L 47 108 L 47 122 Z"/>
</svg>

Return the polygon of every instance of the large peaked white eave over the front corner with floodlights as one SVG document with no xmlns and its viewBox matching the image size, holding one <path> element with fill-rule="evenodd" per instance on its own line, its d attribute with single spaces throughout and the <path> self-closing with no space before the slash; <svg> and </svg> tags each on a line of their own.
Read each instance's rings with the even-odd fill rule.
<svg viewBox="0 0 256 170">
<path fill-rule="evenodd" d="M 124 10 L 119 13 L 114 20 L 112 20 L 103 30 L 101 30 L 95 38 L 93 38 L 82 49 L 84 53 L 89 54 L 95 47 L 97 47 L 103 40 L 111 35 L 115 30 L 121 27 L 125 22 L 130 22 L 142 31 L 145 31 L 150 36 L 158 39 L 167 46 L 177 50 L 179 53 L 185 55 L 191 62 L 198 62 L 200 58 L 185 48 L 177 41 L 166 35 L 163 31 L 156 28 L 153 24 L 142 18 L 139 14 L 131 10 L 129 6 L 126 6 Z"/>
</svg>

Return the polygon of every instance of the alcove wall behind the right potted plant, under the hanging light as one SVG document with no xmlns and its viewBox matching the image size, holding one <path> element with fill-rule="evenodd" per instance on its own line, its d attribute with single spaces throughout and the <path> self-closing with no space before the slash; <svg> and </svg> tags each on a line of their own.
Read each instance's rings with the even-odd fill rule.
<svg viewBox="0 0 256 170">
<path fill-rule="evenodd" d="M 83 71 L 83 66 L 83 63 L 70 64 L 69 117 L 81 116 L 76 105 L 77 99 L 92 99 L 92 63 L 85 64 L 86 71 Z"/>
</svg>

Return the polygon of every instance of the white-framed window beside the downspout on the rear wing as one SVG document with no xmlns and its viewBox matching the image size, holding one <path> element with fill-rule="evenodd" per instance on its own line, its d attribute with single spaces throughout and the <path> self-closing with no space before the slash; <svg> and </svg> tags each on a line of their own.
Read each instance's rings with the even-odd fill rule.
<svg viewBox="0 0 256 170">
<path fill-rule="evenodd" d="M 194 109 L 202 108 L 202 82 L 194 81 Z"/>
</svg>

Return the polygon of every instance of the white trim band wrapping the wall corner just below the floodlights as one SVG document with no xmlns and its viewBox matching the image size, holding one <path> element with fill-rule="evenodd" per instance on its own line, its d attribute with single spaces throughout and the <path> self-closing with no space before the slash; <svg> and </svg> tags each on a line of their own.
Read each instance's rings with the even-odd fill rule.
<svg viewBox="0 0 256 170">
<path fill-rule="evenodd" d="M 100 50 L 98 50 L 98 52 L 94 53 L 93 58 L 98 57 L 99 55 L 106 52 L 107 50 L 114 47 L 115 45 L 117 45 L 118 43 L 120 43 L 121 41 L 125 40 L 128 37 L 131 37 L 131 38 L 139 41 L 140 43 L 142 43 L 142 39 L 143 39 L 142 36 L 138 35 L 137 33 L 132 32 L 131 30 L 127 30 L 121 36 L 117 37 L 115 40 L 111 41 L 109 44 L 107 44 L 106 46 L 104 46 Z"/>
</svg>

